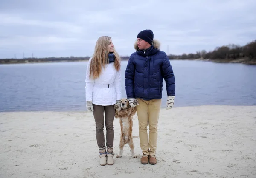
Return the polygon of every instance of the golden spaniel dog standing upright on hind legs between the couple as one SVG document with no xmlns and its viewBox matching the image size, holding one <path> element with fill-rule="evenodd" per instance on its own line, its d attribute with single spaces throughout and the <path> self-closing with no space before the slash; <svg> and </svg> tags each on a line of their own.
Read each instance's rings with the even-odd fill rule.
<svg viewBox="0 0 256 178">
<path fill-rule="evenodd" d="M 131 156 L 133 158 L 137 158 L 137 155 L 134 153 L 134 142 L 132 136 L 132 126 L 133 126 L 133 116 L 136 113 L 136 108 L 131 107 L 128 99 L 123 98 L 120 101 L 120 105 L 115 105 L 115 117 L 119 118 L 120 126 L 121 126 L 121 136 L 119 143 L 119 154 L 116 155 L 116 158 L 121 158 L 123 154 L 123 147 L 125 144 L 129 144 Z M 134 100 L 134 104 L 138 105 L 137 99 Z"/>
</svg>

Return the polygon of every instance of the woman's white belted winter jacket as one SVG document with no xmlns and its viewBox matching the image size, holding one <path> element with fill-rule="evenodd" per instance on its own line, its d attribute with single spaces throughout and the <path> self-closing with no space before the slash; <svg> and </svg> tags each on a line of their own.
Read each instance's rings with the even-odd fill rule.
<svg viewBox="0 0 256 178">
<path fill-rule="evenodd" d="M 116 71 L 112 62 L 106 65 L 105 70 L 102 67 L 99 78 L 89 79 L 91 59 L 87 64 L 85 79 L 86 101 L 92 101 L 93 104 L 101 106 L 116 104 L 116 100 L 122 99 L 121 71 Z M 108 88 L 108 84 L 110 84 L 110 88 Z"/>
</svg>

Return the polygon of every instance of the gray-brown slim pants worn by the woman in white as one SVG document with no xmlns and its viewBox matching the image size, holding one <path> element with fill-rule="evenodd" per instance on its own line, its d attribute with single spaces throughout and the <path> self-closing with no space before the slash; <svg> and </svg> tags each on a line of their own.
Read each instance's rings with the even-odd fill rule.
<svg viewBox="0 0 256 178">
<path fill-rule="evenodd" d="M 114 105 L 110 106 L 99 106 L 93 104 L 93 116 L 96 124 L 96 139 L 99 148 L 105 147 L 105 138 L 104 138 L 104 116 L 103 111 L 105 112 L 105 125 L 106 125 L 106 146 L 108 148 L 113 148 L 114 143 L 114 117 L 115 117 L 115 108 Z"/>
</svg>

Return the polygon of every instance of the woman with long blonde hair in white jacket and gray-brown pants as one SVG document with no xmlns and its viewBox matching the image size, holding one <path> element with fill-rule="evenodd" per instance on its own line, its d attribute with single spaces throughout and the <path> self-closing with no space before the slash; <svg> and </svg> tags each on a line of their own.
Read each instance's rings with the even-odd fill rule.
<svg viewBox="0 0 256 178">
<path fill-rule="evenodd" d="M 93 57 L 89 59 L 86 74 L 87 109 L 93 111 L 100 165 L 112 165 L 115 116 L 114 105 L 120 105 L 121 90 L 120 57 L 114 49 L 111 37 L 102 36 L 96 42 Z M 106 145 L 104 139 L 104 116 Z"/>
</svg>

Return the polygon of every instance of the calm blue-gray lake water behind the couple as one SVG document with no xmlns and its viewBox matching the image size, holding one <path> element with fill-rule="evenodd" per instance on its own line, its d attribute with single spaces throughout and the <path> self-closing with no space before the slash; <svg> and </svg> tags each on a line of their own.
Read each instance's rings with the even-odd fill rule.
<svg viewBox="0 0 256 178">
<path fill-rule="evenodd" d="M 256 105 L 256 66 L 171 60 L 175 106 Z M 83 111 L 87 62 L 0 65 L 0 112 Z M 125 68 L 122 62 L 122 96 Z M 166 105 L 163 88 L 162 107 Z"/>
</svg>

